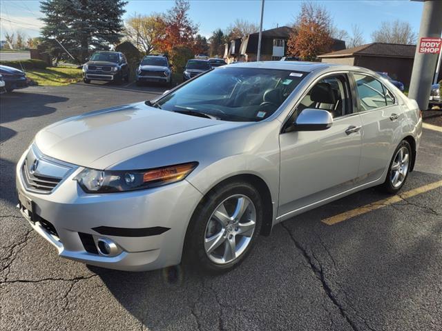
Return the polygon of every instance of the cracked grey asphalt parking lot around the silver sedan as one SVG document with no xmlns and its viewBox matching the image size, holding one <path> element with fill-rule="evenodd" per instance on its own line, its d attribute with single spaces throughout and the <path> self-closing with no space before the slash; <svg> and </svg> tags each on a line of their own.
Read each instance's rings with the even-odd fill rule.
<svg viewBox="0 0 442 331">
<path fill-rule="evenodd" d="M 442 330 L 435 130 L 424 129 L 399 199 L 369 189 L 278 224 L 228 274 L 118 272 L 57 257 L 15 208 L 21 153 L 49 123 L 163 90 L 79 83 L 1 95 L 1 330 Z"/>
</svg>

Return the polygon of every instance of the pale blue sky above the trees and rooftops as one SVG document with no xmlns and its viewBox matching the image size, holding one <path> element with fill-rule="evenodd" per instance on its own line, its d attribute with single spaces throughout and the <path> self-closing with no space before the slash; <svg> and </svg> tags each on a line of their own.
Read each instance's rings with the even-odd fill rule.
<svg viewBox="0 0 442 331">
<path fill-rule="evenodd" d="M 332 14 L 335 25 L 339 29 L 352 30 L 352 24 L 361 26 L 365 41 L 371 41 L 371 34 L 380 26 L 382 21 L 401 19 L 412 25 L 419 32 L 423 3 L 409 0 L 374 1 L 374 0 L 328 0 L 318 1 Z M 302 1 L 266 0 L 264 28 L 276 28 L 277 25 L 291 25 L 300 11 Z M 0 0 L 0 37 L 4 33 L 21 30 L 30 37 L 39 35 L 41 21 L 38 17 L 39 1 L 10 1 Z M 129 1 L 124 18 L 137 14 L 165 12 L 173 6 L 173 1 Z M 235 19 L 247 19 L 258 23 L 260 19 L 260 0 L 191 0 L 190 16 L 200 26 L 200 34 L 209 37 L 217 28 L 226 28 Z"/>
</svg>

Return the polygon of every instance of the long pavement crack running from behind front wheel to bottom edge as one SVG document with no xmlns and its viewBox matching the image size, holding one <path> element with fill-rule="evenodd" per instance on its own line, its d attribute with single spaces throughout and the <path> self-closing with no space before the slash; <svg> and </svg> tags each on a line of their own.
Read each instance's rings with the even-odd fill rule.
<svg viewBox="0 0 442 331">
<path fill-rule="evenodd" d="M 329 284 L 325 280 L 323 268 L 322 268 L 322 265 L 320 265 L 318 259 L 316 259 L 316 257 L 314 257 L 314 254 L 313 254 L 313 258 L 312 258 L 307 253 L 307 250 L 305 248 L 303 248 L 302 245 L 295 239 L 294 235 L 291 233 L 289 228 L 287 228 L 287 225 L 285 225 L 284 223 L 281 223 L 281 225 L 282 225 L 282 228 L 284 228 L 287 231 L 287 233 L 289 234 L 289 237 L 291 238 L 291 241 L 294 242 L 296 248 L 298 248 L 298 250 L 301 252 L 302 256 L 305 258 L 305 261 L 307 261 L 307 263 L 310 265 L 311 270 L 314 272 L 316 278 L 320 281 L 325 294 L 327 294 L 327 297 L 330 299 L 330 301 L 332 301 L 332 303 L 336 306 L 336 308 L 338 308 L 341 316 L 344 317 L 345 321 L 347 321 L 347 323 L 350 325 L 352 330 L 359 331 L 358 326 L 352 320 L 352 318 L 349 316 L 349 314 L 347 314 L 347 312 L 345 311 L 345 308 L 343 308 L 343 306 L 338 302 L 338 299 L 336 299 L 336 297 L 334 297 L 334 294 L 332 292 L 332 288 L 330 288 Z M 313 259 L 315 259 L 318 262 L 318 265 L 320 266 L 320 268 L 318 268 L 316 263 L 314 263 Z M 363 320 L 363 321 L 365 321 L 365 320 Z M 365 323 L 365 325 L 367 326 L 367 328 L 374 331 L 374 329 L 370 328 L 366 323 Z"/>
</svg>

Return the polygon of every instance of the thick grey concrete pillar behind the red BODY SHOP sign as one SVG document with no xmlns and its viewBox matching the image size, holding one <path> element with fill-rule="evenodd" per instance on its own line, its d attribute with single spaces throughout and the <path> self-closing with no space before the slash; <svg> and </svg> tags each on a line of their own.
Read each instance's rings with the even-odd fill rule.
<svg viewBox="0 0 442 331">
<path fill-rule="evenodd" d="M 421 27 L 419 28 L 419 40 L 421 37 L 440 38 L 442 33 L 442 1 L 426 0 L 423 3 Z M 418 46 L 419 46 L 418 40 Z M 421 54 L 416 47 L 410 90 L 408 97 L 415 99 L 421 110 L 428 107 L 434 68 L 436 68 L 438 54 Z"/>
</svg>

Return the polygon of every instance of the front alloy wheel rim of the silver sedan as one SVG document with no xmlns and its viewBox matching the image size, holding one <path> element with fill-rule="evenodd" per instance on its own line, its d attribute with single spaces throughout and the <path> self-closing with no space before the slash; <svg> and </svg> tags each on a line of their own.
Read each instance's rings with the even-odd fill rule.
<svg viewBox="0 0 442 331">
<path fill-rule="evenodd" d="M 228 197 L 215 208 L 204 231 L 204 250 L 214 263 L 238 259 L 251 243 L 256 227 L 256 208 L 242 194 Z"/>
</svg>

